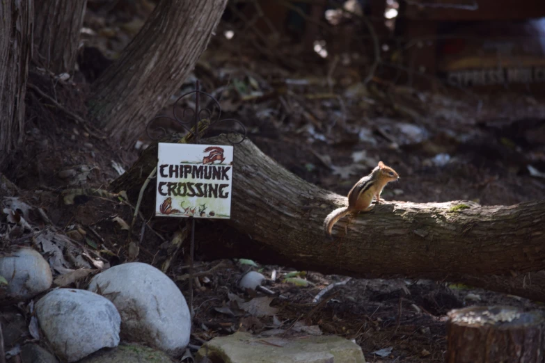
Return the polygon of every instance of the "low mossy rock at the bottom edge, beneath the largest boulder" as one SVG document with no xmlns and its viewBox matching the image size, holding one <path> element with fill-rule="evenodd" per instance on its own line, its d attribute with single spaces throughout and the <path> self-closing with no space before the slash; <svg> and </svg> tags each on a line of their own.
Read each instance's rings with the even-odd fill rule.
<svg viewBox="0 0 545 363">
<path fill-rule="evenodd" d="M 102 349 L 78 363 L 172 363 L 168 355 L 139 344 L 120 344 L 117 348 Z"/>
</svg>

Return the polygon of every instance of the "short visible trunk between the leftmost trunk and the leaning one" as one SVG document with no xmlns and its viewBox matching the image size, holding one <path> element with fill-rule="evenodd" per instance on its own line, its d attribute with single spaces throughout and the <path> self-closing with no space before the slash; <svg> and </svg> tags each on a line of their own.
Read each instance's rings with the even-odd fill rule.
<svg viewBox="0 0 545 363">
<path fill-rule="evenodd" d="M 47 70 L 74 69 L 87 0 L 41 0 L 35 8 L 34 61 Z"/>
</svg>

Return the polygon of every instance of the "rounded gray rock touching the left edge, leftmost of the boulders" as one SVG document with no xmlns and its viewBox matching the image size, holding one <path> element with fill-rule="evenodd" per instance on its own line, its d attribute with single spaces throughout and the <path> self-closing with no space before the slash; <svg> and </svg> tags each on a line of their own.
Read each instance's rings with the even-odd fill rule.
<svg viewBox="0 0 545 363">
<path fill-rule="evenodd" d="M 53 282 L 49 264 L 32 248 L 21 248 L 0 257 L 0 275 L 8 280 L 8 296 L 18 300 L 33 298 L 49 289 Z"/>
</svg>

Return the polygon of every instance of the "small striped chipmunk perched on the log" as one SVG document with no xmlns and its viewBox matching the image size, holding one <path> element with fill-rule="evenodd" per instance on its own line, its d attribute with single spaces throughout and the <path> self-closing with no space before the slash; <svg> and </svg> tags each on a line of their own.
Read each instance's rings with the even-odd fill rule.
<svg viewBox="0 0 545 363">
<path fill-rule="evenodd" d="M 340 218 L 346 216 L 349 213 L 355 213 L 360 211 L 369 211 L 371 209 L 371 202 L 373 197 L 377 200 L 376 204 L 381 201 L 380 194 L 384 186 L 390 181 L 399 179 L 400 176 L 397 172 L 385 166 L 382 161 L 379 161 L 379 165 L 373 169 L 370 175 L 367 175 L 352 186 L 348 193 L 348 207 L 342 207 L 335 209 L 324 220 L 324 232 L 326 237 L 331 239 L 331 229 L 333 225 L 337 223 Z M 384 200 L 383 200 L 384 201 Z"/>
</svg>

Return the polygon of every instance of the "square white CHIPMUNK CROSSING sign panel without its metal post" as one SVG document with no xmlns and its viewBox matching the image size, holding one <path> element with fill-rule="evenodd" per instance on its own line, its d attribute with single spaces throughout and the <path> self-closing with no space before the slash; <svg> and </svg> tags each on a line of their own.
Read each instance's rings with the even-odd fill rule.
<svg viewBox="0 0 545 363">
<path fill-rule="evenodd" d="M 159 143 L 156 216 L 230 218 L 232 146 Z"/>
</svg>

